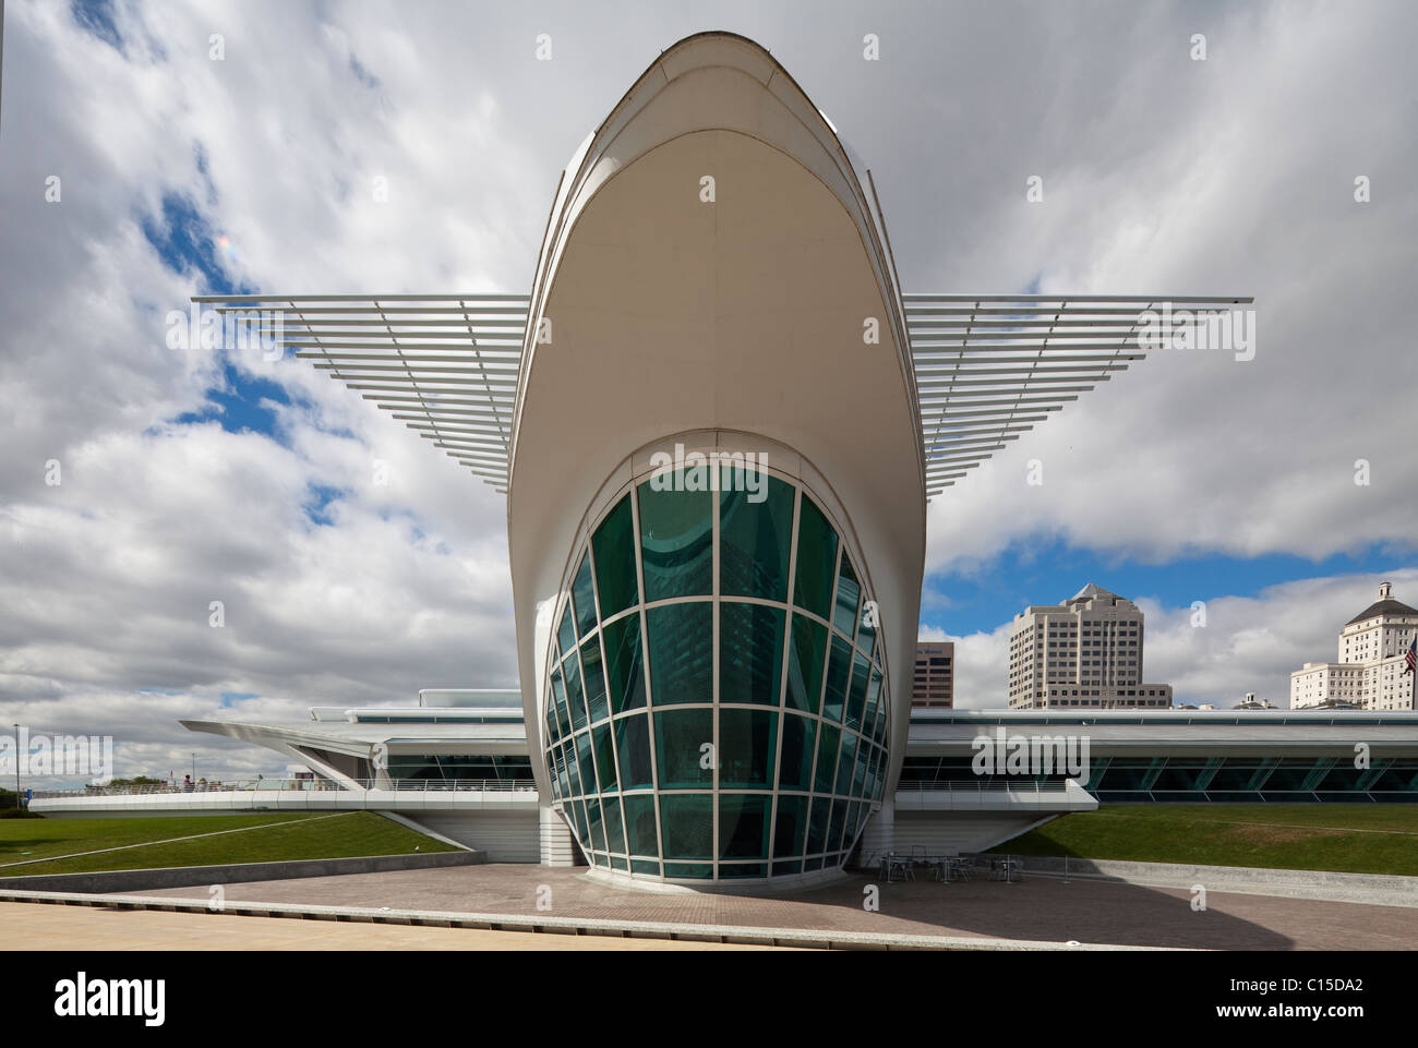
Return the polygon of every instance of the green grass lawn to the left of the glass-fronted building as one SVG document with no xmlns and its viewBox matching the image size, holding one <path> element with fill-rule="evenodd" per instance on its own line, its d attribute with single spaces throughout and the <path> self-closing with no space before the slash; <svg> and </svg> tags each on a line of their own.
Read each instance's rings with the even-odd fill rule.
<svg viewBox="0 0 1418 1048">
<path fill-rule="evenodd" d="M 217 832 L 233 830 L 240 832 Z M 186 841 L 173 840 L 194 834 L 208 835 Z M 123 849 L 75 855 L 98 848 Z M 20 862 L 47 855 L 72 857 L 27 862 L 23 866 L 0 866 L 0 878 L 86 874 L 98 869 L 206 866 L 223 862 L 406 855 L 415 849 L 430 852 L 454 848 L 372 811 L 343 811 L 333 815 L 288 813 L 0 821 L 0 862 Z"/>
</svg>

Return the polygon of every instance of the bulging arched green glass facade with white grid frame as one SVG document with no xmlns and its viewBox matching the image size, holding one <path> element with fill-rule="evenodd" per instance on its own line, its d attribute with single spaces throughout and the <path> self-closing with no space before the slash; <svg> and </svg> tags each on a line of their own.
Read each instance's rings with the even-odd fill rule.
<svg viewBox="0 0 1418 1048">
<path fill-rule="evenodd" d="M 554 797 L 601 869 L 837 869 L 886 771 L 864 574 L 797 484 L 693 474 L 630 485 L 577 552 L 545 688 Z"/>
</svg>

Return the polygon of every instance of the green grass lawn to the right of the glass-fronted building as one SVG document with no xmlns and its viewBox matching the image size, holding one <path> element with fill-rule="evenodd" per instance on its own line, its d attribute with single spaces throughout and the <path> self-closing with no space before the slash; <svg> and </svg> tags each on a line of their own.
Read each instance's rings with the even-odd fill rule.
<svg viewBox="0 0 1418 1048">
<path fill-rule="evenodd" d="M 993 851 L 1414 876 L 1418 804 L 1107 804 Z"/>
</svg>

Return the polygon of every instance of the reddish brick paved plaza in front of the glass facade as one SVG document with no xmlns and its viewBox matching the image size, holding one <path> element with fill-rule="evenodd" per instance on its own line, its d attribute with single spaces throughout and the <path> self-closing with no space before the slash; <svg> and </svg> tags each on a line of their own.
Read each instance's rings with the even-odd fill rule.
<svg viewBox="0 0 1418 1048">
<path fill-rule="evenodd" d="M 1007 885 L 967 881 L 882 883 L 881 910 L 862 908 L 869 878 L 791 896 L 627 892 L 583 869 L 489 864 L 452 869 L 359 874 L 225 885 L 228 902 L 279 902 L 519 916 L 669 920 L 683 925 L 793 927 L 947 935 L 981 939 L 1106 943 L 1238 950 L 1409 950 L 1418 944 L 1418 909 L 1317 902 L 1262 895 L 1208 893 L 1194 912 L 1180 889 L 1029 878 Z M 537 910 L 539 885 L 550 910 Z M 145 895 L 206 899 L 206 888 Z M 244 920 L 245 918 L 241 918 Z M 227 922 L 213 926 L 223 935 Z M 559 936 L 549 936 L 559 937 Z"/>
</svg>

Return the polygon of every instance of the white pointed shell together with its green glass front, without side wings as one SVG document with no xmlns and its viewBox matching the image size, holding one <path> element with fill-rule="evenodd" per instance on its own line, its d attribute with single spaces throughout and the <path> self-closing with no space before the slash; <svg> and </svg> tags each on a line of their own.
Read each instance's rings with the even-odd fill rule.
<svg viewBox="0 0 1418 1048">
<path fill-rule="evenodd" d="M 532 313 L 508 516 L 539 788 L 607 871 L 838 869 L 900 763 L 926 503 L 831 125 L 756 44 L 671 48 L 567 169 Z"/>
</svg>

